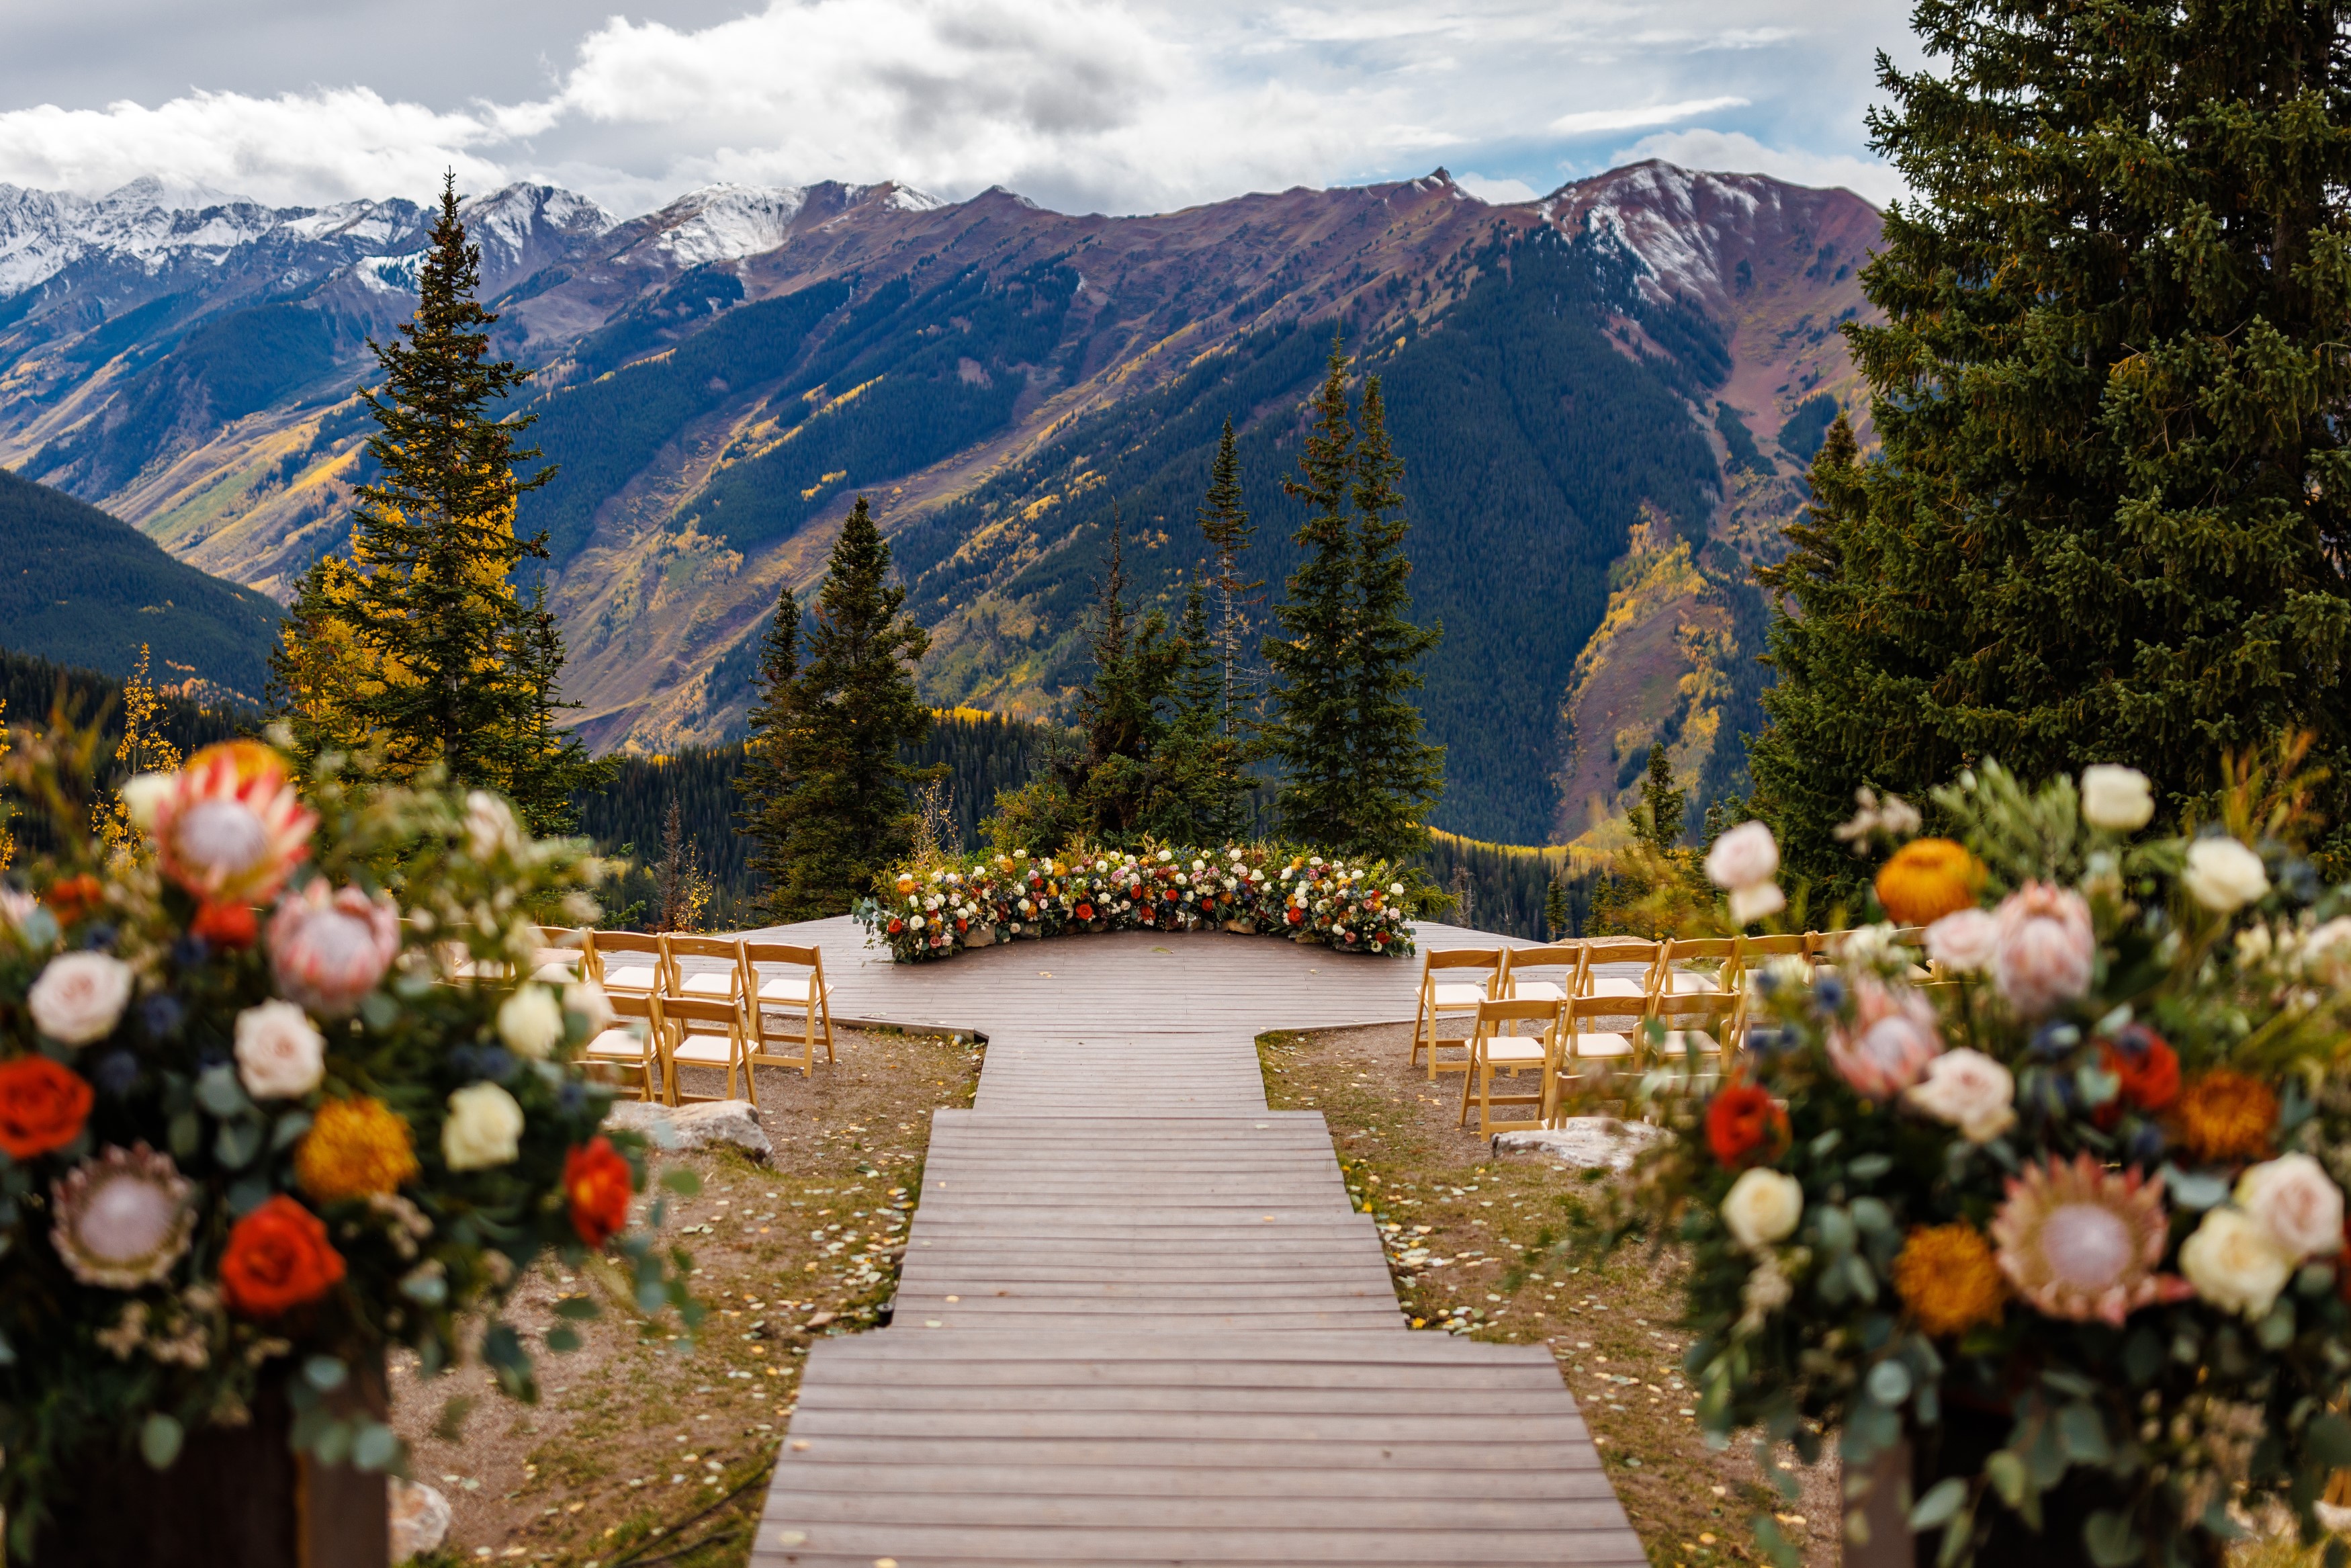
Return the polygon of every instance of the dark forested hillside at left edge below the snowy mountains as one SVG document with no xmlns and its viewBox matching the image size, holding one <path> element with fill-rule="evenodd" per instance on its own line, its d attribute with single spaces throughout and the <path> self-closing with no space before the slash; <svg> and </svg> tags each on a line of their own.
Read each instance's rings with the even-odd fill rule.
<svg viewBox="0 0 2351 1568">
<path fill-rule="evenodd" d="M 268 595 L 186 567 L 132 524 L 5 468 L 0 559 L 0 628 L 19 654 L 120 679 L 150 644 L 165 684 L 200 679 L 230 701 L 261 698 L 282 614 Z"/>
</svg>

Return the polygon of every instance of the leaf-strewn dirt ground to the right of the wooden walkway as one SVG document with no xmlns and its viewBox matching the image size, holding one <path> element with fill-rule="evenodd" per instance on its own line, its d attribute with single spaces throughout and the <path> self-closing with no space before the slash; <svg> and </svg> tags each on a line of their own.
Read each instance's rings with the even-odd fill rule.
<svg viewBox="0 0 2351 1568">
<path fill-rule="evenodd" d="M 1432 1084 L 1406 1065 L 1411 1037 L 1406 1025 L 1267 1034 L 1258 1056 L 1277 1110 L 1319 1110 L 1331 1124 L 1347 1190 L 1387 1237 L 1413 1328 L 1549 1345 L 1650 1563 L 1768 1561 L 1749 1521 L 1773 1514 L 1808 1566 L 1831 1568 L 1834 1460 L 1806 1472 L 1787 1502 L 1747 1443 L 1707 1450 L 1681 1375 L 1690 1335 L 1674 1255 L 1639 1246 L 1601 1258 L 1594 1246 L 1613 1178 L 1495 1159 L 1458 1124 L 1460 1074 Z"/>
</svg>

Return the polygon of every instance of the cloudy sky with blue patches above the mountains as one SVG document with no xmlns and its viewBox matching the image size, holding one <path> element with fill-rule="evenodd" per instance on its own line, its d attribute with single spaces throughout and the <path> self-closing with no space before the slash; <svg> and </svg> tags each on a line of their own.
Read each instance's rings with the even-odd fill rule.
<svg viewBox="0 0 2351 1568">
<path fill-rule="evenodd" d="M 1063 212 L 1634 158 L 1897 195 L 1907 0 L 75 0 L 9 7 L 0 181 L 270 202 L 545 179 L 1011 186 Z"/>
</svg>

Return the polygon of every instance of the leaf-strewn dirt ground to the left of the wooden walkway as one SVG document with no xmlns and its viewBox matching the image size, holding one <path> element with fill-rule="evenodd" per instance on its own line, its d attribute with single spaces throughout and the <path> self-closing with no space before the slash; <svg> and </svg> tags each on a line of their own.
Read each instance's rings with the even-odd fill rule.
<svg viewBox="0 0 2351 1568">
<path fill-rule="evenodd" d="M 731 1150 L 658 1161 L 703 1178 L 698 1197 L 665 1194 L 661 1229 L 694 1255 L 694 1293 L 710 1307 L 691 1342 L 639 1342 L 607 1309 L 578 1326 L 581 1349 L 536 1347 L 536 1406 L 503 1399 L 480 1366 L 418 1382 L 414 1359 L 393 1363 L 393 1422 L 411 1443 L 411 1472 L 454 1512 L 449 1544 L 421 1561 L 745 1561 L 802 1356 L 816 1335 L 879 1321 L 922 1192 L 931 1112 L 971 1105 L 978 1084 L 969 1041 L 839 1030 L 837 1048 L 839 1063 L 818 1060 L 809 1079 L 759 1070 L 769 1164 Z M 719 1074 L 694 1077 L 689 1088 L 719 1088 Z M 513 1295 L 508 1319 L 536 1342 L 557 1324 L 555 1302 L 585 1291 L 550 1267 Z M 451 1399 L 470 1408 L 449 1410 Z M 454 1436 L 435 1432 L 444 1413 Z"/>
</svg>

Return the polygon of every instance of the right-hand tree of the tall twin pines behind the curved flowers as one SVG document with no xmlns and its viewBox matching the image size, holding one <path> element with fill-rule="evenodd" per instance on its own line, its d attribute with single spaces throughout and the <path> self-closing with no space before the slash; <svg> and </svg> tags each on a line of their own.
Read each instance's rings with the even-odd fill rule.
<svg viewBox="0 0 2351 1568">
<path fill-rule="evenodd" d="M 1404 458 L 1387 444 L 1387 404 L 1380 378 L 1364 381 L 1364 435 L 1354 449 L 1357 510 L 1357 630 L 1354 677 L 1354 853 L 1401 860 L 1429 842 L 1422 825 L 1446 788 L 1446 748 L 1420 738 L 1420 658 L 1444 639 L 1444 625 L 1415 625 L 1404 555 L 1411 524 L 1399 515 Z"/>
</svg>

